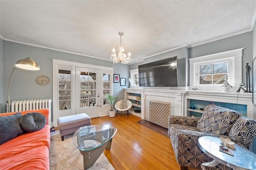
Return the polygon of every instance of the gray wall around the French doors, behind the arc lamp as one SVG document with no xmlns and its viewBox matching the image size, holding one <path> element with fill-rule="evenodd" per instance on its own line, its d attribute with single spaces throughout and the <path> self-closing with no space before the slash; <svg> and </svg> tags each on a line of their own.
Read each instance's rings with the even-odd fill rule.
<svg viewBox="0 0 256 170">
<path fill-rule="evenodd" d="M 64 53 L 52 49 L 34 47 L 21 43 L 3 41 L 3 88 L 4 101 L 7 101 L 8 81 L 15 63 L 19 59 L 31 57 L 40 65 L 39 71 L 29 71 L 16 68 L 10 84 L 10 101 L 30 100 L 30 99 L 52 99 L 52 59 L 62 59 L 80 63 L 101 65 L 113 67 L 114 73 L 120 74 L 120 77 L 129 78 L 128 66 L 113 64 L 111 61 L 85 57 L 71 53 Z M 50 83 L 40 86 L 36 83 L 38 75 L 46 75 L 50 78 Z M 0 79 L 2 80 L 2 79 Z M 124 86 L 120 83 L 114 83 L 114 96 L 124 99 Z M 6 108 L 6 105 L 5 105 Z M 5 109 L 6 111 L 6 109 Z"/>
</svg>

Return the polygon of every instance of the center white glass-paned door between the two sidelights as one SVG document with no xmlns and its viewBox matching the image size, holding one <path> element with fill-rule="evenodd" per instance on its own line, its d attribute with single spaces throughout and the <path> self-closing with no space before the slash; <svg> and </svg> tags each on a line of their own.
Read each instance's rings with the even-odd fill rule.
<svg viewBox="0 0 256 170">
<path fill-rule="evenodd" d="M 100 117 L 100 70 L 76 67 L 76 114 Z"/>
</svg>

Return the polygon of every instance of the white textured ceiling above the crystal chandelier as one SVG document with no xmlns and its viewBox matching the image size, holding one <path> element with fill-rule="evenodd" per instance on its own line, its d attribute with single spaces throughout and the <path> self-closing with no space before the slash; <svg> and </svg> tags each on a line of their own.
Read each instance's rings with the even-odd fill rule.
<svg viewBox="0 0 256 170">
<path fill-rule="evenodd" d="M 132 63 L 172 48 L 252 30 L 256 0 L 0 0 L 0 36 Z"/>
</svg>

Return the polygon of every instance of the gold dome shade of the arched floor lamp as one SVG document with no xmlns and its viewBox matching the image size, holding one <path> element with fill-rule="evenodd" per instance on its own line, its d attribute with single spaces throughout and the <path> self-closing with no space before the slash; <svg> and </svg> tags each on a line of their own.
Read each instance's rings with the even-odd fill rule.
<svg viewBox="0 0 256 170">
<path fill-rule="evenodd" d="M 15 67 L 26 70 L 40 70 L 39 65 L 29 57 L 17 61 Z"/>
</svg>

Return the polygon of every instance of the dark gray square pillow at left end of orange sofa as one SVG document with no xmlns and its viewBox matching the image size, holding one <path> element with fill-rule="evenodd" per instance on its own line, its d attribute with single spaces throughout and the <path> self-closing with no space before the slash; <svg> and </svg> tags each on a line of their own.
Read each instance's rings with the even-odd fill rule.
<svg viewBox="0 0 256 170">
<path fill-rule="evenodd" d="M 0 116 L 0 145 L 25 133 L 20 127 L 21 113 Z"/>
</svg>

